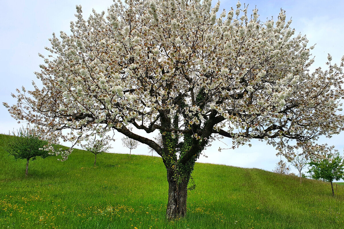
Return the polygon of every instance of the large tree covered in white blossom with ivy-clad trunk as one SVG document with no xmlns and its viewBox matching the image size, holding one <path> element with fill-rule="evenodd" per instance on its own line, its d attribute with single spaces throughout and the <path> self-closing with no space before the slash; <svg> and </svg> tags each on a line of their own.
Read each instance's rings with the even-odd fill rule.
<svg viewBox="0 0 344 229">
<path fill-rule="evenodd" d="M 240 2 L 216 16 L 211 0 L 126 0 L 86 21 L 76 9 L 71 34 L 53 34 L 51 55 L 41 55 L 43 88 L 33 83 L 4 105 L 55 138 L 114 129 L 154 149 L 167 171 L 168 219 L 185 216 L 191 172 L 214 136 L 233 147 L 260 139 L 288 157 L 325 149 L 318 137 L 343 130 L 344 57 L 311 73 L 313 47 L 284 11 L 261 22 Z M 148 137 L 154 130 L 162 147 Z"/>
</svg>

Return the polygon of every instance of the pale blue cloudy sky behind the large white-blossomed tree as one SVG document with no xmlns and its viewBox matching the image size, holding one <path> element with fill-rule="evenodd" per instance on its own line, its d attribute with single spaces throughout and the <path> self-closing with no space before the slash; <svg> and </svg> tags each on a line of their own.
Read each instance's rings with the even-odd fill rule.
<svg viewBox="0 0 344 229">
<path fill-rule="evenodd" d="M 237 1 L 222 1 L 222 9 L 235 8 Z M 213 2 L 213 4 L 215 1 Z M 291 27 L 295 28 L 296 34 L 306 34 L 309 45 L 316 44 L 312 50 L 315 56 L 316 67 L 325 68 L 327 53 L 333 57 L 333 61 L 339 62 L 344 55 L 343 48 L 343 22 L 344 1 L 340 0 L 246 0 L 249 10 L 257 6 L 260 20 L 277 18 L 282 8 L 287 11 L 287 19 L 292 18 Z M 32 1 L 2 1 L 2 13 L 0 14 L 0 102 L 10 105 L 15 103 L 11 93 L 22 85 L 26 89 L 32 89 L 32 80 L 37 80 L 34 71 L 39 71 L 39 64 L 43 60 L 38 53 L 46 54 L 45 46 L 50 46 L 48 38 L 52 33 L 59 34 L 60 31 L 69 32 L 69 22 L 75 21 L 75 5 L 82 5 L 84 18 L 92 13 L 92 8 L 97 12 L 106 11 L 112 0 L 32 0 Z M 0 106 L 0 133 L 7 134 L 13 128 L 21 125 L 9 115 L 4 106 Z M 126 153 L 128 149 L 122 148 L 121 134 L 115 135 L 112 152 Z M 343 153 L 344 133 L 333 136 L 331 139 L 321 139 L 320 143 L 335 145 Z M 222 141 L 230 145 L 229 139 Z M 267 146 L 264 142 L 252 141 L 252 147 L 241 147 L 235 150 L 223 150 L 226 145 L 218 141 L 213 142 L 212 147 L 205 150 L 208 158 L 202 157 L 200 162 L 234 165 L 245 168 L 260 168 L 273 170 L 279 157 L 276 150 Z M 136 154 L 149 154 L 146 146 L 140 145 L 133 150 Z M 283 159 L 283 158 L 282 158 Z M 297 172 L 293 170 L 293 172 Z"/>
</svg>

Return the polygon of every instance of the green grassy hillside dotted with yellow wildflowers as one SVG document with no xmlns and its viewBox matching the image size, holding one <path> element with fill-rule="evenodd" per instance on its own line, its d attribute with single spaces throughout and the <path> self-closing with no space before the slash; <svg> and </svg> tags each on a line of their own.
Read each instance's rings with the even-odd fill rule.
<svg viewBox="0 0 344 229">
<path fill-rule="evenodd" d="M 4 138 L 0 135 L 0 145 Z M 344 186 L 259 169 L 197 163 L 187 217 L 164 219 L 166 171 L 158 157 L 74 150 L 14 161 L 0 147 L 1 228 L 342 228 Z"/>
</svg>

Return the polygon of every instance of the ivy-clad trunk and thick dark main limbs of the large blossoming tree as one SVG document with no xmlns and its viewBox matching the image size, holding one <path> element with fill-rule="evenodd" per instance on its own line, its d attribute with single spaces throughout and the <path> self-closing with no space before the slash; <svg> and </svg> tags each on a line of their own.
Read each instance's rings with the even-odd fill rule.
<svg viewBox="0 0 344 229">
<path fill-rule="evenodd" d="M 166 88 L 170 87 L 172 86 L 166 84 Z M 194 105 L 199 106 L 200 109 L 203 109 L 204 101 L 206 101 L 205 91 L 202 89 L 197 93 L 196 98 L 192 102 Z M 162 104 L 166 103 L 166 100 L 162 101 Z M 180 109 L 185 106 L 185 101 L 182 96 L 177 99 L 176 103 Z M 147 133 L 151 133 L 154 130 L 153 127 L 159 129 L 162 145 L 158 145 L 153 140 L 132 133 L 125 126 L 116 128 L 118 132 L 128 138 L 150 146 L 162 157 L 169 184 L 166 209 L 166 219 L 168 220 L 186 216 L 187 185 L 190 181 L 195 162 L 208 145 L 211 135 L 214 134 L 213 127 L 224 121 L 224 117 L 218 115 L 218 112 L 214 110 L 210 112 L 209 118 L 204 121 L 203 128 L 201 128 L 202 121 L 199 118 L 198 123 L 190 123 L 186 130 L 179 131 L 179 118 L 182 116 L 184 120 L 187 120 L 187 115 L 182 111 L 172 116 L 170 110 L 160 110 L 158 117 L 152 123 L 152 127 L 144 127 L 135 122 L 133 123 L 136 128 L 144 129 Z M 160 125 L 155 125 L 154 123 L 158 120 L 160 120 Z"/>
</svg>

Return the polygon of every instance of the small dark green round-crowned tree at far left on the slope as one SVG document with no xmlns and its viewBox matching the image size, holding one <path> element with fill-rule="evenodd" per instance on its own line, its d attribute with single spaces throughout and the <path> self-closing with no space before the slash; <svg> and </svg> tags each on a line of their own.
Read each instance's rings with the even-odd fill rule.
<svg viewBox="0 0 344 229">
<path fill-rule="evenodd" d="M 29 160 L 35 160 L 36 157 L 46 158 L 49 156 L 49 151 L 43 149 L 48 145 L 47 141 L 41 140 L 41 135 L 37 133 L 36 127 L 31 128 L 27 125 L 17 130 L 17 133 L 12 131 L 13 137 L 9 138 L 4 145 L 4 149 L 9 152 L 14 159 L 26 159 L 25 177 L 28 176 Z"/>
</svg>

